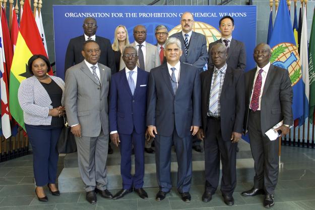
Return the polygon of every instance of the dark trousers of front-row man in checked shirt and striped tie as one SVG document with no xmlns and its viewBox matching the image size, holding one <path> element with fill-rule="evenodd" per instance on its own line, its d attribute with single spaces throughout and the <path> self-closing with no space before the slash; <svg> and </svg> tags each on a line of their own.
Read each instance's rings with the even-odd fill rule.
<svg viewBox="0 0 315 210">
<path fill-rule="evenodd" d="M 208 118 L 205 130 L 205 175 L 206 191 L 215 193 L 220 177 L 220 157 L 222 162 L 221 192 L 232 196 L 236 187 L 236 144 L 223 139 L 221 121 Z M 225 140 L 225 141 L 224 141 Z"/>
</svg>

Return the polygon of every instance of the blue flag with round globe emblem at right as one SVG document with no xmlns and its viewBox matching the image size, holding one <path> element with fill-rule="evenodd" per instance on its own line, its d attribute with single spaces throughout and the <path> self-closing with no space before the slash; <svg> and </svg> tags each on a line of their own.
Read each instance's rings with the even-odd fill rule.
<svg viewBox="0 0 315 210">
<path fill-rule="evenodd" d="M 289 10 L 285 0 L 280 1 L 270 46 L 272 48 L 270 61 L 274 65 L 287 69 L 289 72 L 293 90 L 293 119 L 297 119 L 303 115 L 302 71 Z"/>
</svg>

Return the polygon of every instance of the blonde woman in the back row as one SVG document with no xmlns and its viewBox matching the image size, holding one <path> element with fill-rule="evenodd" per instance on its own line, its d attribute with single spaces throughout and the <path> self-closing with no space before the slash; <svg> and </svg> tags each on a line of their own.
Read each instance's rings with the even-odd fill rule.
<svg viewBox="0 0 315 210">
<path fill-rule="evenodd" d="M 128 31 L 127 28 L 123 25 L 119 25 L 115 29 L 115 38 L 114 42 L 111 45 L 114 51 L 114 58 L 115 58 L 115 64 L 116 64 L 116 70 L 117 72 L 124 68 L 124 62 L 121 57 L 121 52 L 124 46 L 129 44 L 129 37 L 128 37 Z"/>
</svg>

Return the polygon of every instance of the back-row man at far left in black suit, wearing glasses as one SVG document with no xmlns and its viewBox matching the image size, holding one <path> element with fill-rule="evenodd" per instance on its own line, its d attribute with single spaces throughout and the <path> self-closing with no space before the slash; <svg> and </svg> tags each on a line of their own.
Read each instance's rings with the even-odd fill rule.
<svg viewBox="0 0 315 210">
<path fill-rule="evenodd" d="M 101 50 L 99 62 L 102 63 L 103 65 L 108 66 L 111 69 L 111 73 L 114 74 L 116 72 L 116 67 L 110 41 L 104 37 L 95 35 L 97 30 L 96 20 L 90 17 L 86 18 L 84 20 L 82 28 L 84 34 L 72 38 L 69 41 L 65 57 L 65 74 L 68 68 L 84 60 L 81 51 L 82 45 L 87 40 L 96 41 Z"/>
</svg>

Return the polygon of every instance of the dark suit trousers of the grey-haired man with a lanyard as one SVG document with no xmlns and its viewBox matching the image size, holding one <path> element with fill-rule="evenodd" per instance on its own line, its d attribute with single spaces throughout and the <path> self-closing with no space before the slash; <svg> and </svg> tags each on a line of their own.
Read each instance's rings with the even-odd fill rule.
<svg viewBox="0 0 315 210">
<path fill-rule="evenodd" d="M 171 136 L 155 136 L 156 175 L 161 190 L 167 192 L 172 188 L 170 169 L 174 144 L 178 164 L 177 190 L 180 193 L 188 192 L 192 180 L 192 136 L 180 138 L 176 129 Z"/>
</svg>

